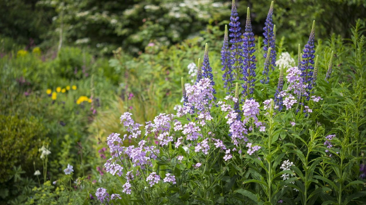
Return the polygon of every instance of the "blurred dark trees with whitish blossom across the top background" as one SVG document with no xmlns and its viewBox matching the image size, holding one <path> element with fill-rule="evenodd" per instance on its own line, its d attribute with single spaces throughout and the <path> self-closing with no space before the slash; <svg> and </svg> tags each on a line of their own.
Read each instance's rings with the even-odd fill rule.
<svg viewBox="0 0 366 205">
<path fill-rule="evenodd" d="M 251 8 L 255 35 L 262 35 L 270 0 L 238 0 L 244 28 L 246 8 Z M 4 0 L 0 3 L 0 36 L 20 44 L 29 38 L 51 47 L 76 44 L 100 54 L 111 54 L 122 46 L 136 54 L 156 40 L 164 45 L 199 35 L 207 25 L 229 23 L 230 0 Z M 280 39 L 304 42 L 311 22 L 316 35 L 331 32 L 348 38 L 355 19 L 365 19 L 366 0 L 275 0 L 273 21 Z M 60 35 L 60 33 L 62 35 Z M 62 40 L 60 40 L 62 39 Z"/>
</svg>

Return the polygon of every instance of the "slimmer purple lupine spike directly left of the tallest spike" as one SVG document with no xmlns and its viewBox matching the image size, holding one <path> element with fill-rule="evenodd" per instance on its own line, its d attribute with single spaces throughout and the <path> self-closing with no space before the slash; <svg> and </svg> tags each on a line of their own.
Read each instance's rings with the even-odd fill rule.
<svg viewBox="0 0 366 205">
<path fill-rule="evenodd" d="M 232 86 L 233 76 L 230 64 L 230 51 L 229 51 L 229 38 L 228 38 L 228 26 L 225 25 L 225 34 L 224 34 L 224 43 L 223 47 L 221 48 L 221 68 L 222 71 L 225 71 L 223 74 L 223 81 L 224 81 L 224 88 L 227 88 L 228 92 L 230 93 L 230 88 Z"/>
</svg>

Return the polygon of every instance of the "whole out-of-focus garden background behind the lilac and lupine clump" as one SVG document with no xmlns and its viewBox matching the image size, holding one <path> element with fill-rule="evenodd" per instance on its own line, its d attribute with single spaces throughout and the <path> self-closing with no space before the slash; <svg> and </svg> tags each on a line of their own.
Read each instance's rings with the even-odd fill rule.
<svg viewBox="0 0 366 205">
<path fill-rule="evenodd" d="M 106 137 L 124 134 L 117 123 L 120 115 L 131 112 L 143 124 L 159 113 L 173 113 L 182 104 L 180 78 L 190 82 L 187 66 L 203 57 L 205 43 L 210 45 L 214 80 L 220 82 L 220 48 L 231 1 L 122 2 L 0 1 L 0 204 L 98 204 L 96 184 L 118 187 L 102 167 L 109 158 L 109 151 L 103 151 Z M 251 7 L 259 45 L 269 4 L 237 2 L 242 28 Z M 366 1 L 277 0 L 274 10 L 278 54 L 288 51 L 296 61 L 297 45 L 307 41 L 313 19 L 321 75 L 335 51 L 332 85 L 324 84 L 328 87 L 322 90 L 334 95 L 322 117 L 335 120 L 332 115 L 341 116 L 345 109 L 335 104 L 357 98 L 352 80 L 366 79 L 361 37 Z M 356 19 L 359 27 L 352 30 Z M 259 45 L 258 57 L 263 55 Z M 263 59 L 258 61 L 262 66 Z M 341 89 L 338 83 L 343 96 L 335 94 Z M 364 93 L 358 94 L 364 101 Z M 352 122 L 339 117 L 334 123 Z M 329 126 L 336 125 L 332 121 Z M 44 171 L 38 151 L 42 145 L 51 151 L 45 178 L 33 174 Z M 63 172 L 68 164 L 74 166 L 72 179 Z M 57 179 L 67 188 L 70 182 L 75 192 L 53 185 Z"/>
</svg>

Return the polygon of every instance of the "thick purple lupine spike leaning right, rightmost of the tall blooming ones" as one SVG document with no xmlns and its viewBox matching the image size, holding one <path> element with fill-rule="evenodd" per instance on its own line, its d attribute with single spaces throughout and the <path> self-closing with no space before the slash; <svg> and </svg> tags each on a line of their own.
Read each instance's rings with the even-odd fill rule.
<svg viewBox="0 0 366 205">
<path fill-rule="evenodd" d="M 314 41 L 315 41 L 315 20 L 313 21 L 313 26 L 311 27 L 311 32 L 309 36 L 309 40 L 305 45 L 305 48 L 302 50 L 302 61 L 300 70 L 302 71 L 301 77 L 303 79 L 303 84 L 306 85 L 306 100 L 310 100 L 310 91 L 313 88 L 311 81 L 313 80 L 313 65 L 314 65 Z"/>
</svg>

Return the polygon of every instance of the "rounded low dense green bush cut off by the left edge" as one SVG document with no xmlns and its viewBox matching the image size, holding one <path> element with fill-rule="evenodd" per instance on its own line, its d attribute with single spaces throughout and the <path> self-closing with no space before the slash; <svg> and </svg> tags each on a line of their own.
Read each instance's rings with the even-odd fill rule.
<svg viewBox="0 0 366 205">
<path fill-rule="evenodd" d="M 45 129 L 34 117 L 0 115 L 0 183 L 8 181 L 13 166 L 33 173 L 33 160 L 44 140 Z"/>
</svg>

